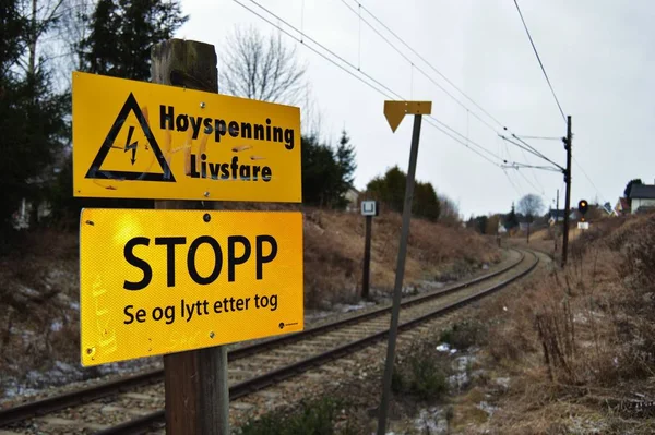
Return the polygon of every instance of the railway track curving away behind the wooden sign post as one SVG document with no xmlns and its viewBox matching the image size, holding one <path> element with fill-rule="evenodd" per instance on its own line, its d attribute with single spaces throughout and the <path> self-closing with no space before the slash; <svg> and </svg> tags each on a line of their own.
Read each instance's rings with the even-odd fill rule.
<svg viewBox="0 0 655 435">
<path fill-rule="evenodd" d="M 536 267 L 538 256 L 514 252 L 517 261 L 500 270 L 404 299 L 400 330 L 446 315 Z M 238 408 L 241 398 L 380 342 L 386 337 L 390 316 L 391 306 L 383 306 L 231 350 L 228 354 L 230 403 Z M 2 427 L 10 433 L 141 434 L 153 431 L 162 426 L 165 418 L 163 376 L 163 371 L 153 371 L 2 410 L 0 434 Z"/>
</svg>

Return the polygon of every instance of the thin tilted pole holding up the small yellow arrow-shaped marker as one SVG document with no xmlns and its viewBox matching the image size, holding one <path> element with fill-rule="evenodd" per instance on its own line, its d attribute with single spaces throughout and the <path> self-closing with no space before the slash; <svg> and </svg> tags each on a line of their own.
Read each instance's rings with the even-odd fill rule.
<svg viewBox="0 0 655 435">
<path fill-rule="evenodd" d="M 405 186 L 405 203 L 403 204 L 403 227 L 401 230 L 401 246 L 396 264 L 396 279 L 393 289 L 393 309 L 391 313 L 391 327 L 389 329 L 389 345 L 386 347 L 386 364 L 382 388 L 382 401 L 378 413 L 378 435 L 386 432 L 386 412 L 391 397 L 391 375 L 395 359 L 395 342 L 398 331 L 398 317 L 401 315 L 401 295 L 403 278 L 405 275 L 405 257 L 407 254 L 407 240 L 409 238 L 409 220 L 412 218 L 412 200 L 414 197 L 414 174 L 416 173 L 416 159 L 418 156 L 418 138 L 420 136 L 421 114 L 414 116 L 414 131 L 412 133 L 412 149 L 409 150 L 409 168 L 407 169 L 407 184 Z"/>
</svg>

